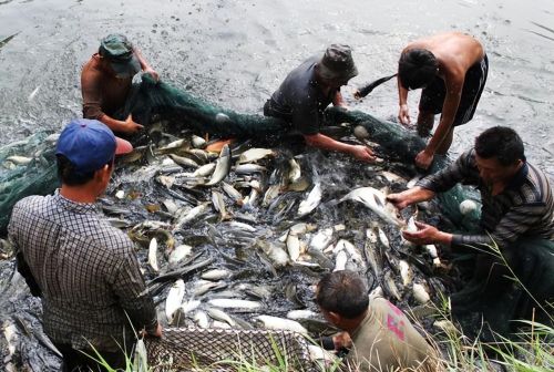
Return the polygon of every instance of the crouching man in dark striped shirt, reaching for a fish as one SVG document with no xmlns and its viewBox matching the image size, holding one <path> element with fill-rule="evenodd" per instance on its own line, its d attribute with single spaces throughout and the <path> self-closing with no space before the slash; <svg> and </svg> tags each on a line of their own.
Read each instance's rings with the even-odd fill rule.
<svg viewBox="0 0 554 372">
<path fill-rule="evenodd" d="M 474 148 L 447 168 L 388 199 L 398 208 L 429 200 L 455 184 L 474 185 L 481 193 L 481 232 L 459 235 L 417 223 L 416 232 L 403 237 L 417 245 L 442 244 L 453 249 L 475 247 L 473 278 L 451 296 L 453 312 L 484 311 L 491 329 L 507 332 L 509 320 L 527 317 L 531 300 L 505 278 L 512 273 L 499 265 L 489 247 L 496 246 L 520 281 L 538 303 L 554 297 L 554 198 L 548 178 L 526 162 L 521 137 L 496 126 L 475 138 Z M 489 252 L 489 254 L 485 254 Z M 526 304 L 527 303 L 527 304 Z M 551 310 L 552 311 L 552 310 Z M 552 313 L 552 312 L 551 312 Z"/>
</svg>

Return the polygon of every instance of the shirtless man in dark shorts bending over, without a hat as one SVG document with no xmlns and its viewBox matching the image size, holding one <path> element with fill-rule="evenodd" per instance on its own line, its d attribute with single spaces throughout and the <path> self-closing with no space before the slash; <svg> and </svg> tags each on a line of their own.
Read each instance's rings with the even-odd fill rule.
<svg viewBox="0 0 554 372">
<path fill-rule="evenodd" d="M 474 38 L 449 32 L 408 44 L 398 62 L 398 118 L 410 123 L 408 91 L 423 89 L 419 103 L 418 133 L 428 136 L 434 115 L 439 126 L 427 147 L 416 156 L 416 165 L 429 168 L 434 154 L 445 154 L 454 126 L 468 123 L 475 112 L 489 72 L 483 45 Z"/>
</svg>

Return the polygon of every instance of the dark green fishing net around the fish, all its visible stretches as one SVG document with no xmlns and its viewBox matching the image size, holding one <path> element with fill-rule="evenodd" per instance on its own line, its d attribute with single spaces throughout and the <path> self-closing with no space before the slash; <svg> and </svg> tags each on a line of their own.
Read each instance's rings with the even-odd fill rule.
<svg viewBox="0 0 554 372">
<path fill-rule="evenodd" d="M 125 107 L 117 116 L 133 118 L 144 125 L 150 125 L 154 117 L 166 123 L 167 133 L 178 134 L 182 131 L 204 135 L 206 133 L 218 137 L 237 138 L 273 138 L 285 137 L 290 126 L 283 120 L 265 117 L 256 114 L 240 114 L 225 110 L 198 99 L 186 91 L 164 82 L 155 82 L 148 74 L 142 76 L 142 82 L 135 84 Z M 413 163 L 416 155 L 425 143 L 413 132 L 402 125 L 377 118 L 361 111 L 348 111 L 341 107 L 330 107 L 325 115 L 326 125 L 348 123 L 351 128 L 363 126 L 369 133 L 369 140 L 377 143 L 380 153 L 387 158 Z M 347 125 L 347 126 L 348 126 Z M 6 235 L 6 228 L 13 205 L 29 195 L 51 194 L 58 187 L 55 176 L 54 142 L 44 141 L 45 133 L 38 133 L 24 142 L 0 147 L 0 162 L 4 164 L 8 156 L 25 155 L 32 161 L 27 165 L 11 166 L 0 170 L 0 234 Z M 136 138 L 137 141 L 140 138 Z M 438 163 L 437 168 L 444 166 Z M 443 213 L 459 224 L 463 217 L 459 213 L 459 204 L 466 199 L 465 190 L 441 196 Z"/>
</svg>

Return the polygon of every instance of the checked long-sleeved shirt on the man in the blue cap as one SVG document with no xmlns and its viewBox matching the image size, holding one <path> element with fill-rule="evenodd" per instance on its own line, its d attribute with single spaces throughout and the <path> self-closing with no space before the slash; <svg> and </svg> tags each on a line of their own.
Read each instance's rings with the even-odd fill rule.
<svg viewBox="0 0 554 372">
<path fill-rule="evenodd" d="M 8 227 L 40 288 L 44 332 L 73 349 L 120 351 L 135 328 L 154 331 L 156 312 L 145 289 L 131 239 L 110 226 L 95 204 L 61 196 L 29 196 L 14 207 Z M 129 319 L 127 319 L 127 316 Z"/>
</svg>

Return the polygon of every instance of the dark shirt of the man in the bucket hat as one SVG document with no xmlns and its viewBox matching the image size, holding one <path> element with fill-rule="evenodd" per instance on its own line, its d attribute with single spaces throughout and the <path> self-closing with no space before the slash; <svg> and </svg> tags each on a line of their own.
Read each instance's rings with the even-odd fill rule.
<svg viewBox="0 0 554 372">
<path fill-rule="evenodd" d="M 339 90 L 325 96 L 316 80 L 316 64 L 320 56 L 314 55 L 293 70 L 279 89 L 271 95 L 273 111 L 293 124 L 293 128 L 305 135 L 318 134 L 324 111 Z M 271 113 L 269 115 L 274 116 Z"/>
</svg>

